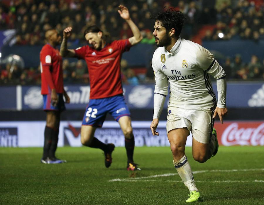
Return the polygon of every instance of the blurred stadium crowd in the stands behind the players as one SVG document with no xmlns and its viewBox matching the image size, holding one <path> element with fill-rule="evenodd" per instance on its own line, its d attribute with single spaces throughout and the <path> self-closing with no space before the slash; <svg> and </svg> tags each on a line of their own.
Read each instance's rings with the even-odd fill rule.
<svg viewBox="0 0 264 205">
<path fill-rule="evenodd" d="M 15 29 L 15 45 L 43 45 L 44 33 L 56 28 L 62 35 L 63 29 L 71 26 L 73 33 L 69 45 L 85 44 L 83 31 L 87 26 L 98 25 L 101 30 L 111 34 L 111 40 L 132 36 L 132 31 L 119 17 L 118 5 L 127 5 L 133 21 L 138 25 L 144 38 L 141 43 L 155 44 L 152 36 L 151 15 L 160 8 L 176 8 L 185 13 L 187 20 L 181 36 L 192 37 L 207 24 L 203 40 L 252 40 L 264 38 L 263 0 L 193 0 L 193 1 L 155 1 L 155 0 L 3 0 L 0 2 L 0 28 Z M 223 35 L 220 36 L 219 33 Z M 133 68 L 123 63 L 123 82 L 138 84 L 153 80 L 150 67 L 145 76 L 137 76 Z M 228 79 L 264 79 L 264 60 L 256 55 L 251 62 L 243 62 L 240 55 L 227 57 L 222 65 Z M 17 65 L 2 65 L 1 84 L 39 84 L 40 68 L 21 69 Z M 69 63 L 63 61 L 65 83 L 88 83 L 89 74 L 85 62 Z M 153 81 L 152 81 L 153 82 Z"/>
</svg>

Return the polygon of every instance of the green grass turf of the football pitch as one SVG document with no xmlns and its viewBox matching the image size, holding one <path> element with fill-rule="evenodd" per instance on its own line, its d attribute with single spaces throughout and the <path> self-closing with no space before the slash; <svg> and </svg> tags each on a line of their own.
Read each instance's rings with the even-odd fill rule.
<svg viewBox="0 0 264 205">
<path fill-rule="evenodd" d="M 58 148 L 57 157 L 68 161 L 58 165 L 41 164 L 41 153 L 41 148 L 0 148 L 0 204 L 185 204 L 187 199 L 178 175 L 135 179 L 176 173 L 169 147 L 135 148 L 140 172 L 126 170 L 125 148 L 115 149 L 108 169 L 98 149 Z M 209 170 L 194 174 L 202 204 L 264 204 L 263 147 L 220 147 L 203 164 L 192 159 L 191 148 L 186 155 L 193 172 Z M 210 172 L 233 169 L 238 171 Z M 116 178 L 134 181 L 109 182 Z"/>
</svg>

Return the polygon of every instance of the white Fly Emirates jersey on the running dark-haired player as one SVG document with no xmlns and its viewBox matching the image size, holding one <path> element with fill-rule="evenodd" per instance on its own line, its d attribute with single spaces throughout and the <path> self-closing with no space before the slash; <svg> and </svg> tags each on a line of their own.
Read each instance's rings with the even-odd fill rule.
<svg viewBox="0 0 264 205">
<path fill-rule="evenodd" d="M 209 74 L 216 79 L 225 72 L 214 56 L 201 45 L 180 38 L 168 52 L 159 47 L 153 54 L 155 93 L 167 95 L 170 83 L 170 105 L 192 105 L 205 109 L 216 107 L 217 101 Z M 225 100 L 223 105 L 225 107 Z"/>
</svg>

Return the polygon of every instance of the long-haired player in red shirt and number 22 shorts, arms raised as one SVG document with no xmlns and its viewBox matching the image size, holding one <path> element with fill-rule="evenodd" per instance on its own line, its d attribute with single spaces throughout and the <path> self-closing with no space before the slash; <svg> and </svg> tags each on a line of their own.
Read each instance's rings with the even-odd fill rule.
<svg viewBox="0 0 264 205">
<path fill-rule="evenodd" d="M 64 29 L 60 47 L 62 57 L 77 57 L 87 63 L 90 77 L 90 101 L 86 108 L 81 128 L 83 145 L 100 148 L 105 154 L 105 166 L 112 162 L 111 153 L 114 144 L 104 144 L 94 137 L 97 127 L 101 127 L 106 114 L 110 113 L 119 123 L 125 136 L 125 148 L 128 157 L 127 170 L 140 170 L 133 161 L 135 139 L 131 127 L 131 118 L 126 106 L 121 83 L 120 60 L 123 52 L 142 39 L 140 31 L 131 20 L 128 9 L 120 5 L 119 14 L 130 26 L 133 37 L 125 40 L 115 40 L 108 43 L 106 36 L 97 26 L 89 26 L 84 31 L 84 38 L 92 45 L 82 46 L 75 50 L 67 49 L 67 38 L 72 28 Z"/>
</svg>

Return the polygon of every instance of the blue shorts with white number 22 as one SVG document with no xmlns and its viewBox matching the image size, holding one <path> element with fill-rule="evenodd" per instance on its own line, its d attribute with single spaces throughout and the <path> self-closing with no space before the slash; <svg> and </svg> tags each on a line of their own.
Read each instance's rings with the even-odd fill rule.
<svg viewBox="0 0 264 205">
<path fill-rule="evenodd" d="M 123 95 L 90 99 L 84 113 L 82 125 L 101 127 L 107 113 L 110 113 L 117 122 L 122 116 L 130 116 L 130 112 L 126 106 Z"/>
</svg>

